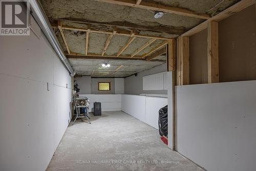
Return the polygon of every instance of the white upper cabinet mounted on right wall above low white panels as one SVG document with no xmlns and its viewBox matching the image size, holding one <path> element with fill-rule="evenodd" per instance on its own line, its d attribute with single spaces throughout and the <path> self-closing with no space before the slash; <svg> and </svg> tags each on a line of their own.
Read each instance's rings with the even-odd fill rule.
<svg viewBox="0 0 256 171">
<path fill-rule="evenodd" d="M 143 77 L 143 90 L 167 90 L 166 72 Z"/>
</svg>

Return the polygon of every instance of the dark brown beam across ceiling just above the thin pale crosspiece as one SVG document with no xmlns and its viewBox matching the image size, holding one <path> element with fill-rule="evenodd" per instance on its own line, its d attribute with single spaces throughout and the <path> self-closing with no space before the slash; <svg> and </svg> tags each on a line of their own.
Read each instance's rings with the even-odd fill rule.
<svg viewBox="0 0 256 171">
<path fill-rule="evenodd" d="M 111 23 L 103 23 L 103 22 L 95 22 L 91 20 L 79 19 L 79 18 L 59 18 L 63 22 L 71 22 L 71 23 L 80 23 L 80 24 L 91 24 L 91 25 L 102 25 L 109 27 L 119 27 L 125 29 L 136 29 L 143 31 L 152 31 L 152 32 L 162 32 L 168 34 L 183 34 L 186 31 L 185 27 L 174 27 L 174 26 L 142 26 L 129 22 L 111 22 Z M 56 22 L 56 20 L 54 20 Z"/>
</svg>

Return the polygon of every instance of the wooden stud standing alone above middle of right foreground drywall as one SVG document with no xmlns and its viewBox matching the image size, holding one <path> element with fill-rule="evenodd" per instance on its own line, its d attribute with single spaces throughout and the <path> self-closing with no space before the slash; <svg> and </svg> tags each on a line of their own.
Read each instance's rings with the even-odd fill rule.
<svg viewBox="0 0 256 171">
<path fill-rule="evenodd" d="M 208 26 L 208 83 L 219 82 L 219 36 L 218 22 Z"/>
</svg>

